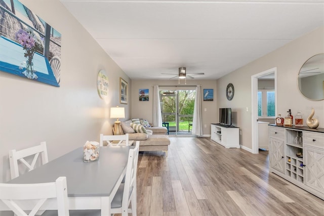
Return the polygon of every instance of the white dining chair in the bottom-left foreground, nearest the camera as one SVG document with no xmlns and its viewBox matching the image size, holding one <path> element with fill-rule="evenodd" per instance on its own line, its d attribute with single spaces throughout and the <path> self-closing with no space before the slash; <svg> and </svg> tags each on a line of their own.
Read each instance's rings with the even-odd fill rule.
<svg viewBox="0 0 324 216">
<path fill-rule="evenodd" d="M 0 200 L 15 215 L 35 215 L 47 199 L 56 198 L 56 215 L 68 216 L 69 203 L 67 198 L 66 177 L 58 177 L 55 182 L 39 184 L 8 184 L 0 183 Z M 31 205 L 33 204 L 33 205 Z M 25 211 L 30 211 L 27 214 Z"/>
</svg>

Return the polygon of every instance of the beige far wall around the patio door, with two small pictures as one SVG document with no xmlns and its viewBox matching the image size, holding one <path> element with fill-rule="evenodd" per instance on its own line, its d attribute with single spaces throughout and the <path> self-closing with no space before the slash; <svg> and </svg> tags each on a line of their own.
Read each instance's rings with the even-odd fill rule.
<svg viewBox="0 0 324 216">
<path fill-rule="evenodd" d="M 187 85 L 184 81 L 178 80 L 133 80 L 132 81 L 132 117 L 145 118 L 150 123 L 153 122 L 153 85 L 178 86 L 177 89 L 185 89 L 186 86 L 201 85 L 201 98 L 203 98 L 204 89 L 214 89 L 214 101 L 201 101 L 201 110 L 203 116 L 204 135 L 211 134 L 211 123 L 218 123 L 216 108 L 216 80 L 187 80 Z M 192 88 L 192 87 L 190 87 Z M 139 101 L 139 89 L 149 89 L 149 101 Z M 225 94 L 225 93 L 224 93 Z M 205 108 L 207 111 L 205 112 Z"/>
</svg>

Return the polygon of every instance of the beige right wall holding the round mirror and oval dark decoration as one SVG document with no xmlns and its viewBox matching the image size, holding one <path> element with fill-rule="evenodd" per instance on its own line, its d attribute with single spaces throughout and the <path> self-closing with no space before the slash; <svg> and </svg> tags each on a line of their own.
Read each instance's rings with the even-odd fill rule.
<svg viewBox="0 0 324 216">
<path fill-rule="evenodd" d="M 301 111 L 304 119 L 311 107 L 319 119 L 319 127 L 324 127 L 324 100 L 312 101 L 298 90 L 297 76 L 301 66 L 311 56 L 324 53 L 324 28 L 318 28 L 217 80 L 217 106 L 232 107 L 237 111 L 238 127 L 242 131 L 240 145 L 252 149 L 251 131 L 251 76 L 270 68 L 277 68 L 277 112 L 286 114 L 288 109 L 296 115 Z M 235 94 L 231 101 L 223 92 L 228 83 L 233 83 Z M 246 110 L 248 109 L 248 111 Z"/>
</svg>

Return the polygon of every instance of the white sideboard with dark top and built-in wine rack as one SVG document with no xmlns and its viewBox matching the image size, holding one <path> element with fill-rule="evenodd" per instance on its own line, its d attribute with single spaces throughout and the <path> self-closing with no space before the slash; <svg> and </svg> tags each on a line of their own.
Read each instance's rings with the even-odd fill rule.
<svg viewBox="0 0 324 216">
<path fill-rule="evenodd" d="M 269 160 L 269 171 L 324 200 L 324 128 L 269 125 Z"/>
</svg>

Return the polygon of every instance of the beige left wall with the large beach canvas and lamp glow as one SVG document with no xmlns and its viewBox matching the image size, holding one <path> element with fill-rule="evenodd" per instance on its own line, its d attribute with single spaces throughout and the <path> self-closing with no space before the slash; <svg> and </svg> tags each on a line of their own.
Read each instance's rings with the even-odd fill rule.
<svg viewBox="0 0 324 216">
<path fill-rule="evenodd" d="M 21 1 L 62 33 L 61 87 L 0 72 L 0 182 L 10 179 L 8 151 L 47 141 L 49 160 L 111 134 L 109 107 L 119 105 L 119 77 L 128 76 L 58 0 Z M 106 101 L 97 93 L 97 74 L 109 78 Z M 126 107 L 130 116 L 131 98 Z M 81 156 L 81 153 L 80 153 Z"/>
</svg>

